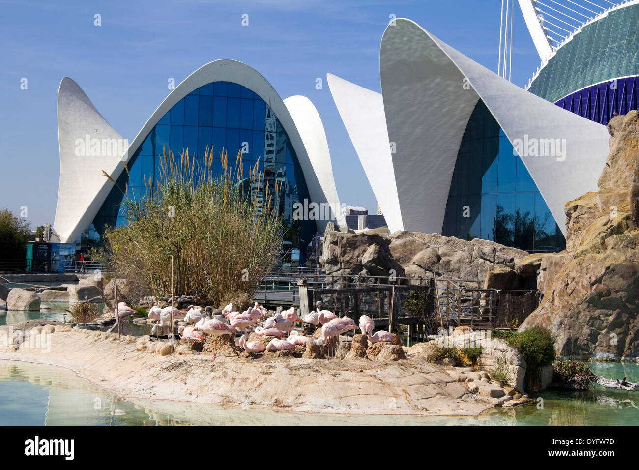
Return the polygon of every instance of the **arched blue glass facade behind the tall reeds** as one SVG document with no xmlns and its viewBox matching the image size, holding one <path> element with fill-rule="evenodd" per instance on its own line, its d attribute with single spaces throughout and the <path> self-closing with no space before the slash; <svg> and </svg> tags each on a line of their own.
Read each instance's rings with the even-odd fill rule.
<svg viewBox="0 0 639 470">
<path fill-rule="evenodd" d="M 235 164 L 237 152 L 242 150 L 244 177 L 259 161 L 259 171 L 271 194 L 275 182 L 281 184 L 279 204 L 275 210 L 284 219 L 284 239 L 300 249 L 300 263 L 304 263 L 306 249 L 316 228 L 312 221 L 293 220 L 293 204 L 309 198 L 302 169 L 286 131 L 273 110 L 256 93 L 232 82 L 212 82 L 201 86 L 182 98 L 164 114 L 144 138 L 127 162 L 129 172 L 123 171 L 117 186 L 127 187 L 130 196 L 146 192 L 145 182 L 157 179 L 160 155 L 173 152 L 180 155 L 189 150 L 203 163 L 206 148 L 213 148 L 213 168 L 222 169 L 219 154 L 224 148 L 229 164 Z M 123 194 L 114 187 L 98 210 L 93 225 L 102 236 L 105 226 L 125 223 L 121 208 Z M 255 189 L 253 189 L 255 191 Z"/>
</svg>

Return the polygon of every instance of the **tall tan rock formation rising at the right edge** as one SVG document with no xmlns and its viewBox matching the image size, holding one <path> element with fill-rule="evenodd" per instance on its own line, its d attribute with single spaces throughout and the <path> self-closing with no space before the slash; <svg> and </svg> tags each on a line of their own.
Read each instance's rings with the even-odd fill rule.
<svg viewBox="0 0 639 470">
<path fill-rule="evenodd" d="M 541 260 L 544 298 L 520 331 L 551 329 L 563 356 L 639 356 L 638 124 L 610 121 L 598 190 L 566 204 L 566 251 Z"/>
</svg>

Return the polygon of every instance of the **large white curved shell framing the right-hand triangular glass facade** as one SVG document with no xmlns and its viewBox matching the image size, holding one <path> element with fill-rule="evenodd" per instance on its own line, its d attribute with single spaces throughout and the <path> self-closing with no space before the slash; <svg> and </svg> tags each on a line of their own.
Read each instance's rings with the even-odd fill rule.
<svg viewBox="0 0 639 470">
<path fill-rule="evenodd" d="M 606 127 L 522 90 L 408 19 L 387 27 L 380 73 L 405 230 L 441 233 L 461 138 L 481 99 L 511 143 L 560 139 L 564 155 L 520 157 L 565 235 L 566 202 L 597 188 Z"/>
</svg>

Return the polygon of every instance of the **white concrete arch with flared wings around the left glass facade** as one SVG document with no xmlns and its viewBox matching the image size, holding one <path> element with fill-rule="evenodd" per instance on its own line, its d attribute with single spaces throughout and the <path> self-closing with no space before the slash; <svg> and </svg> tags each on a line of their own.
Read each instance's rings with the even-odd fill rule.
<svg viewBox="0 0 639 470">
<path fill-rule="evenodd" d="M 91 104 L 81 88 L 65 77 L 58 97 L 60 141 L 60 187 L 54 233 L 62 242 L 73 242 L 93 221 L 113 187 L 105 171 L 117 180 L 134 152 L 158 121 L 182 98 L 197 88 L 217 81 L 240 84 L 254 91 L 271 107 L 288 134 L 304 173 L 312 201 L 339 208 L 325 131 L 312 103 L 304 97 L 291 97 L 284 104 L 271 84 L 256 70 L 238 61 L 220 59 L 204 65 L 181 82 L 151 114 L 135 139 L 121 155 L 112 157 L 74 156 L 73 143 L 85 134 L 99 139 L 119 137 Z M 334 211 L 337 223 L 346 226 L 340 211 Z M 318 220 L 318 231 L 328 221 Z"/>
</svg>

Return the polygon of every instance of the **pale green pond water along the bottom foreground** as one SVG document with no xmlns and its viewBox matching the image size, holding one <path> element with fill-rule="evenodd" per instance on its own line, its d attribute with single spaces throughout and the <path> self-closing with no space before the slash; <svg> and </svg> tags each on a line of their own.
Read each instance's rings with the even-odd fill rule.
<svg viewBox="0 0 639 470">
<path fill-rule="evenodd" d="M 595 363 L 608 377 L 639 381 L 635 363 Z M 256 406 L 125 400 L 64 368 L 0 361 L 0 425 L 639 425 L 639 393 L 592 386 L 587 392 L 546 392 L 541 402 L 496 408 L 480 416 L 332 416 Z M 537 398 L 535 396 L 534 398 Z"/>
</svg>

